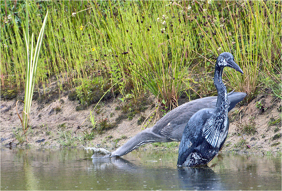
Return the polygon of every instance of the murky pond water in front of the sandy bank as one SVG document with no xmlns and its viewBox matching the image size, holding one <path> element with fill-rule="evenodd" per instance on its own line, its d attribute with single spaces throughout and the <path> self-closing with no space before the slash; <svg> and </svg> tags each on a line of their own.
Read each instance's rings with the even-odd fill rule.
<svg viewBox="0 0 282 191">
<path fill-rule="evenodd" d="M 179 168 L 178 153 L 93 160 L 83 149 L 1 148 L 1 190 L 281 190 L 281 157 L 219 154 Z"/>
</svg>

